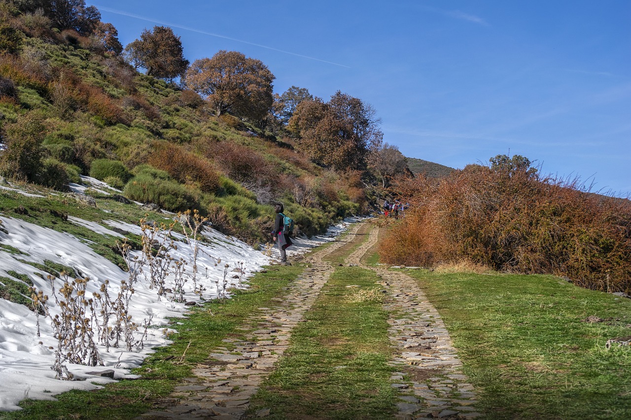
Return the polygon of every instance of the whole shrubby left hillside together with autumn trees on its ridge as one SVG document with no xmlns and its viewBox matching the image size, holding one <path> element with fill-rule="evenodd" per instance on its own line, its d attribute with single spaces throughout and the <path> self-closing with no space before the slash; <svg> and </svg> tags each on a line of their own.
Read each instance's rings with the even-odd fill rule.
<svg viewBox="0 0 631 420">
<path fill-rule="evenodd" d="M 254 244 L 275 202 L 309 236 L 376 204 L 382 133 L 358 98 L 273 93 L 271 71 L 239 52 L 189 65 L 164 26 L 123 48 L 83 0 L 4 0 L 0 20 L 5 177 L 66 191 L 90 175 Z"/>
</svg>

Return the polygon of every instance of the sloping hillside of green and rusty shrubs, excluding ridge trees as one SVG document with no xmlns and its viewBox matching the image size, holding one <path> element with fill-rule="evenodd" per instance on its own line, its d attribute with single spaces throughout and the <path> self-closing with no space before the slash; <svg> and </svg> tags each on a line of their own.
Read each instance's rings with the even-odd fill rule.
<svg viewBox="0 0 631 420">
<path fill-rule="evenodd" d="M 252 244 L 268 240 L 274 202 L 311 236 L 375 201 L 361 172 L 314 163 L 282 127 L 217 116 L 198 93 L 139 73 L 91 37 L 64 30 L 21 44 L 0 56 L 8 178 L 63 192 L 90 175 L 127 199 L 196 209 Z"/>
</svg>

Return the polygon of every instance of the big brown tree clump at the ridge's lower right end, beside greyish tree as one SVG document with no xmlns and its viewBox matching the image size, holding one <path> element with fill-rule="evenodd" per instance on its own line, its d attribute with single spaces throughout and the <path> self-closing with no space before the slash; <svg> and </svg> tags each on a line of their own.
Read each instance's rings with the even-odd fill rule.
<svg viewBox="0 0 631 420">
<path fill-rule="evenodd" d="M 364 170 L 367 156 L 382 143 L 379 124 L 374 108 L 337 91 L 327 103 L 319 98 L 300 102 L 288 130 L 315 162 L 336 170 Z"/>
</svg>

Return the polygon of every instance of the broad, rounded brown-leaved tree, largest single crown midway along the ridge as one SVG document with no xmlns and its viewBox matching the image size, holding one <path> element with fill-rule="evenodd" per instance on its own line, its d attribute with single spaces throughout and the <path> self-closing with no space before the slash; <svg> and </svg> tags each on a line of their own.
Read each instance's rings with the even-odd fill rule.
<svg viewBox="0 0 631 420">
<path fill-rule="evenodd" d="M 252 122 L 264 119 L 273 104 L 275 77 L 262 61 L 237 51 L 221 50 L 198 59 L 186 72 L 186 86 L 215 109 Z"/>
</svg>

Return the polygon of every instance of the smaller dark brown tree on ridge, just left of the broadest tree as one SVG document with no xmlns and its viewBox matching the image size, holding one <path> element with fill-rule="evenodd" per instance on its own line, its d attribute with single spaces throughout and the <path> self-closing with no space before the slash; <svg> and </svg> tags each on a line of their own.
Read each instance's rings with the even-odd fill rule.
<svg viewBox="0 0 631 420">
<path fill-rule="evenodd" d="M 153 26 L 153 32 L 143 30 L 140 39 L 125 47 L 125 55 L 136 69 L 143 67 L 148 76 L 158 79 L 177 78 L 189 65 L 180 37 L 168 26 Z"/>
</svg>

